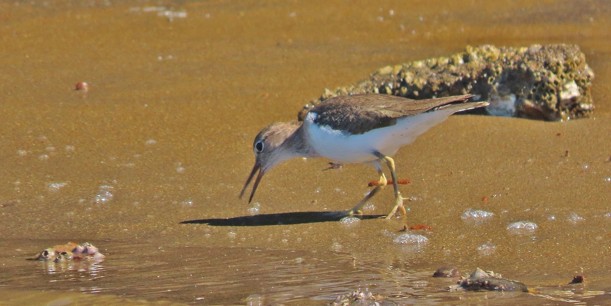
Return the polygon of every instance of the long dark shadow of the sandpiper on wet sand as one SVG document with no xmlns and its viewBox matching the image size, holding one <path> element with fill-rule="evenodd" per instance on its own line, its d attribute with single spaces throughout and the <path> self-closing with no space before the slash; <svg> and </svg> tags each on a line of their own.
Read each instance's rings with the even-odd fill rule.
<svg viewBox="0 0 611 306">
<path fill-rule="evenodd" d="M 304 224 L 313 222 L 332 222 L 349 216 L 347 210 L 339 212 L 295 212 L 266 213 L 262 215 L 240 216 L 234 218 L 211 218 L 182 221 L 180 224 L 208 224 L 211 226 L 275 226 L 283 224 Z M 377 219 L 384 215 L 355 215 L 359 219 Z"/>
</svg>

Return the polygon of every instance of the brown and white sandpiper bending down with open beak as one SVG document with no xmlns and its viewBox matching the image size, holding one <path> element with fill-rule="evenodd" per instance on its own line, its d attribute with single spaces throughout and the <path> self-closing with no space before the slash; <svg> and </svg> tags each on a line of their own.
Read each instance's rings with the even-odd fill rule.
<svg viewBox="0 0 611 306">
<path fill-rule="evenodd" d="M 390 169 L 395 191 L 395 206 L 386 219 L 397 210 L 405 214 L 392 155 L 453 113 L 488 105 L 466 102 L 472 96 L 412 100 L 388 94 L 352 94 L 329 98 L 310 109 L 303 123 L 273 123 L 258 133 L 252 145 L 255 165 L 240 198 L 257 171 L 249 203 L 263 174 L 279 163 L 294 157 L 326 157 L 341 163 L 365 163 L 378 170 L 378 185 L 346 210 L 346 215 L 360 214 L 365 202 L 387 184 L 382 163 Z"/>
</svg>

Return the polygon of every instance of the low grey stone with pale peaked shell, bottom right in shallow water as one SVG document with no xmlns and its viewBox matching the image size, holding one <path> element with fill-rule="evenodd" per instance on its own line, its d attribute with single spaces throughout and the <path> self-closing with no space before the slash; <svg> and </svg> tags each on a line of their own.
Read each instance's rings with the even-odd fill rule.
<svg viewBox="0 0 611 306">
<path fill-rule="evenodd" d="M 469 277 L 461 277 L 456 285 L 450 286 L 451 291 L 522 291 L 530 292 L 524 283 L 517 280 L 503 279 L 500 274 L 492 271 L 475 269 Z"/>
</svg>

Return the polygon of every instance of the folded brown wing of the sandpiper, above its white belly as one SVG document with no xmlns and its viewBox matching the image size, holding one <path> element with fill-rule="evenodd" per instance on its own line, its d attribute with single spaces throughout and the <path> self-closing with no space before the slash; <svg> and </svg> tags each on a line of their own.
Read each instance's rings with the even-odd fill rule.
<svg viewBox="0 0 611 306">
<path fill-rule="evenodd" d="M 313 107 L 314 123 L 332 129 L 362 134 L 380 127 L 393 126 L 397 118 L 414 116 L 445 105 L 463 103 L 472 94 L 447 98 L 413 100 L 389 94 L 353 94 L 336 96 Z"/>
</svg>

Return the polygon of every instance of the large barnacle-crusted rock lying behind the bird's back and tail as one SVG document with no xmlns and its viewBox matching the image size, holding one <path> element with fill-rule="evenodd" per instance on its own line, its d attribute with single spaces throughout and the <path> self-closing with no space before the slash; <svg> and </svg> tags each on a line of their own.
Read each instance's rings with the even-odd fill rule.
<svg viewBox="0 0 611 306">
<path fill-rule="evenodd" d="M 386 66 L 352 86 L 325 90 L 305 105 L 299 119 L 321 101 L 357 93 L 411 99 L 471 93 L 476 101 L 490 102 L 486 107 L 489 115 L 548 121 L 584 118 L 594 109 L 593 79 L 585 55 L 576 45 L 467 46 L 450 57 Z"/>
</svg>

